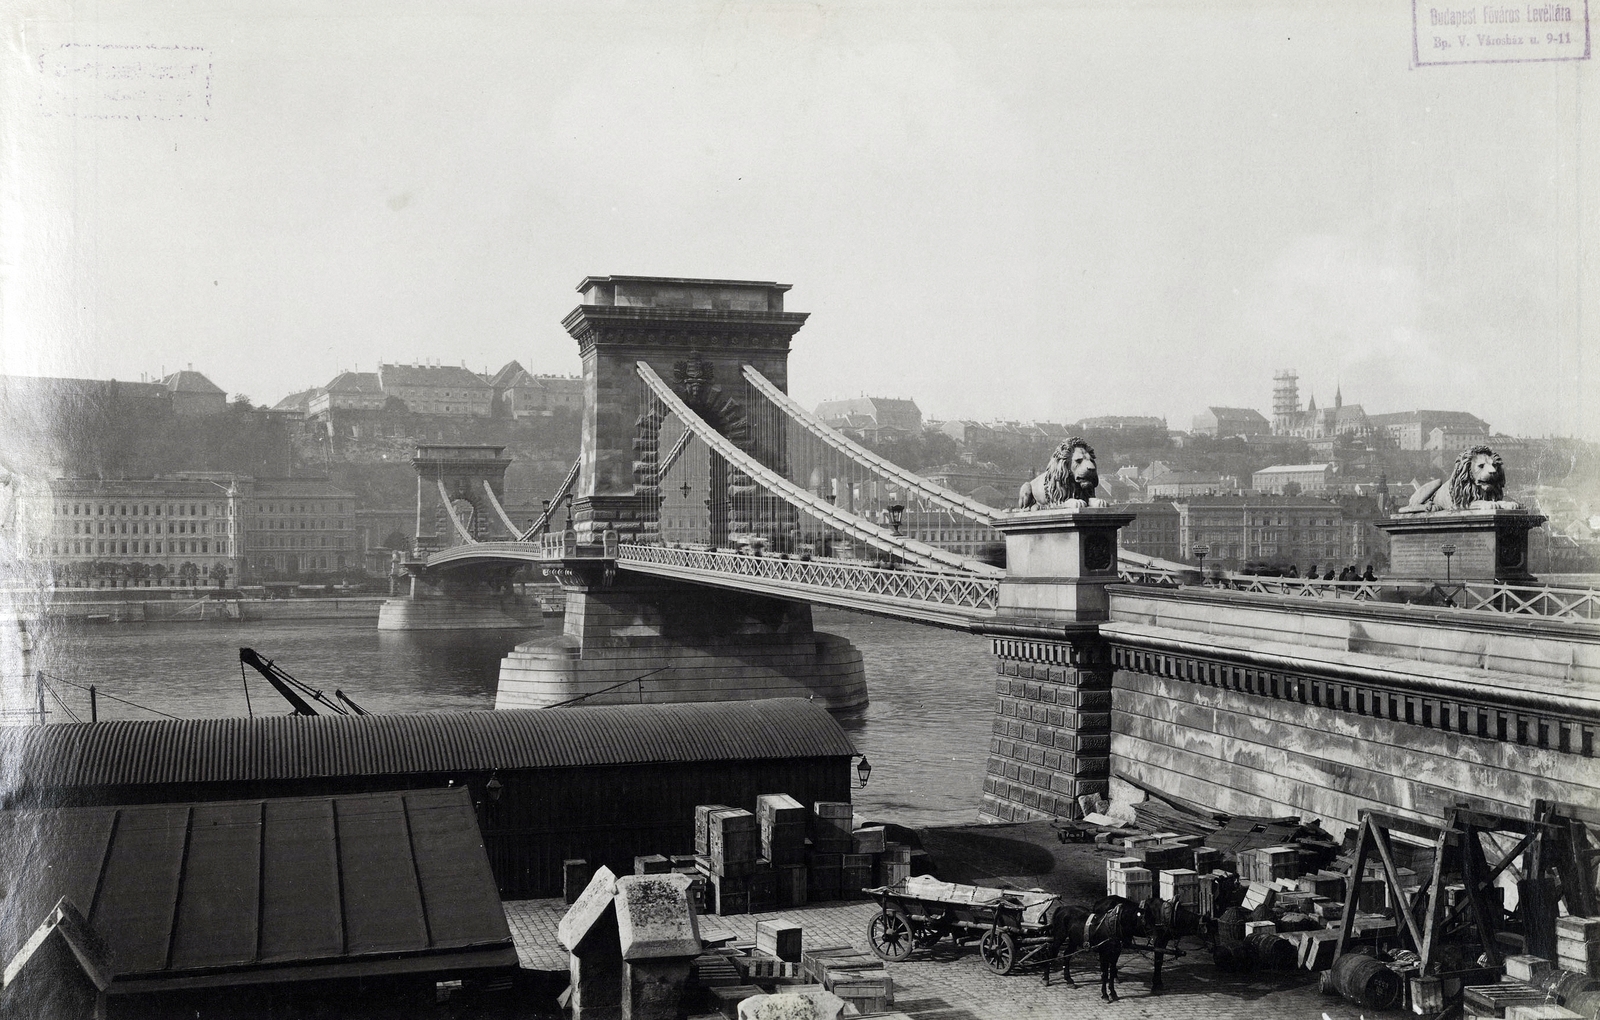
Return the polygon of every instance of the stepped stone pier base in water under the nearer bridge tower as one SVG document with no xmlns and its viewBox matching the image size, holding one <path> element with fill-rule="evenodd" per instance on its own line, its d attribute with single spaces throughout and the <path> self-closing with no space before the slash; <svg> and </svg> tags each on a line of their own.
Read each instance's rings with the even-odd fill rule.
<svg viewBox="0 0 1600 1020">
<path fill-rule="evenodd" d="M 856 646 L 814 632 L 806 604 L 618 576 L 568 587 L 562 636 L 506 655 L 494 707 L 581 695 L 586 705 L 811 697 L 838 710 L 866 705 L 867 681 Z"/>
</svg>

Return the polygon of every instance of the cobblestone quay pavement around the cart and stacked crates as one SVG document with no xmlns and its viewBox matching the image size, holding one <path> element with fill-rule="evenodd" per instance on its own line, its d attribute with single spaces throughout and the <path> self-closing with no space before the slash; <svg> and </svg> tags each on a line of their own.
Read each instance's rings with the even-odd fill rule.
<svg viewBox="0 0 1600 1020">
<path fill-rule="evenodd" d="M 853 900 L 816 903 L 770 914 L 701 918 L 701 934 L 725 930 L 739 940 L 755 938 L 755 922 L 786 918 L 805 929 L 805 945 L 853 945 L 866 950 L 867 921 L 875 903 Z M 566 951 L 555 940 L 555 926 L 566 905 L 562 900 L 515 900 L 506 903 L 517 956 L 523 967 L 565 970 Z M 1077 988 L 1061 983 L 1059 974 L 1045 988 L 1038 974 L 1010 977 L 990 974 L 976 950 L 955 950 L 944 943 L 938 956 L 918 953 L 902 964 L 888 964 L 894 978 L 894 1009 L 917 1020 L 1010 1020 L 1011 1017 L 1112 1017 L 1138 1020 L 1358 1020 L 1362 1010 L 1342 999 L 1317 991 L 1309 974 L 1261 975 L 1254 980 L 1219 974 L 1205 950 L 1163 967 L 1166 991 L 1150 994 L 1150 961 L 1133 953 L 1122 958 L 1118 993 L 1114 1004 L 1101 1002 L 1093 961 L 1074 967 Z M 1387 1014 L 1402 1017 L 1408 1014 Z"/>
</svg>

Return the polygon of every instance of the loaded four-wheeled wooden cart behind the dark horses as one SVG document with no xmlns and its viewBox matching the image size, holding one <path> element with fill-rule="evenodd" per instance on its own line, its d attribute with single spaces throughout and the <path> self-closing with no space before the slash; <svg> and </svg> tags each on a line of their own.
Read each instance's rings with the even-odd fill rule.
<svg viewBox="0 0 1600 1020">
<path fill-rule="evenodd" d="M 958 886 L 920 875 L 893 886 L 866 889 L 882 908 L 867 922 L 867 943 L 880 958 L 899 962 L 949 937 L 978 943 L 995 974 L 1045 962 L 1054 953 L 1050 914 L 1053 892 Z"/>
</svg>

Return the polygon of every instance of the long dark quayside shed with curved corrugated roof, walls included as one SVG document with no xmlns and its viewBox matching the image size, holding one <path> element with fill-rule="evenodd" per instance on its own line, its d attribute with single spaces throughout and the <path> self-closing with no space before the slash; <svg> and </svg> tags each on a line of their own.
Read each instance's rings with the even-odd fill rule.
<svg viewBox="0 0 1600 1020">
<path fill-rule="evenodd" d="M 5 806 L 462 787 L 504 898 L 560 895 L 562 862 L 690 854 L 694 806 L 848 801 L 854 745 L 800 699 L 373 716 L 114 721 L 0 734 Z"/>
</svg>

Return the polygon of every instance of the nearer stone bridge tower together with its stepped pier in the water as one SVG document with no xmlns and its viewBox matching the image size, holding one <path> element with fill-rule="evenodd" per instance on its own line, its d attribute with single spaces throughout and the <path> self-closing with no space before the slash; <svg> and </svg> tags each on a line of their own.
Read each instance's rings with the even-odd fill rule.
<svg viewBox="0 0 1600 1020">
<path fill-rule="evenodd" d="M 587 277 L 581 304 L 562 321 L 582 355 L 582 451 L 573 500 L 579 545 L 656 542 L 661 505 L 659 409 L 640 381 L 643 361 L 693 411 L 773 470 L 784 473 L 781 424 L 752 428 L 744 366 L 789 388 L 789 344 L 806 321 L 784 310 L 787 283 Z M 712 542 L 726 544 L 752 507 L 733 465 L 704 452 Z M 742 502 L 741 502 L 742 500 Z M 792 513 L 792 512 L 790 512 Z M 861 652 L 818 633 L 811 606 L 754 592 L 712 590 L 635 572 L 552 571 L 566 588 L 555 641 L 518 646 L 501 663 L 496 705 L 531 708 L 584 697 L 605 702 L 685 702 L 814 697 L 830 708 L 867 700 Z M 634 678 L 645 678 L 632 683 Z"/>
</svg>

